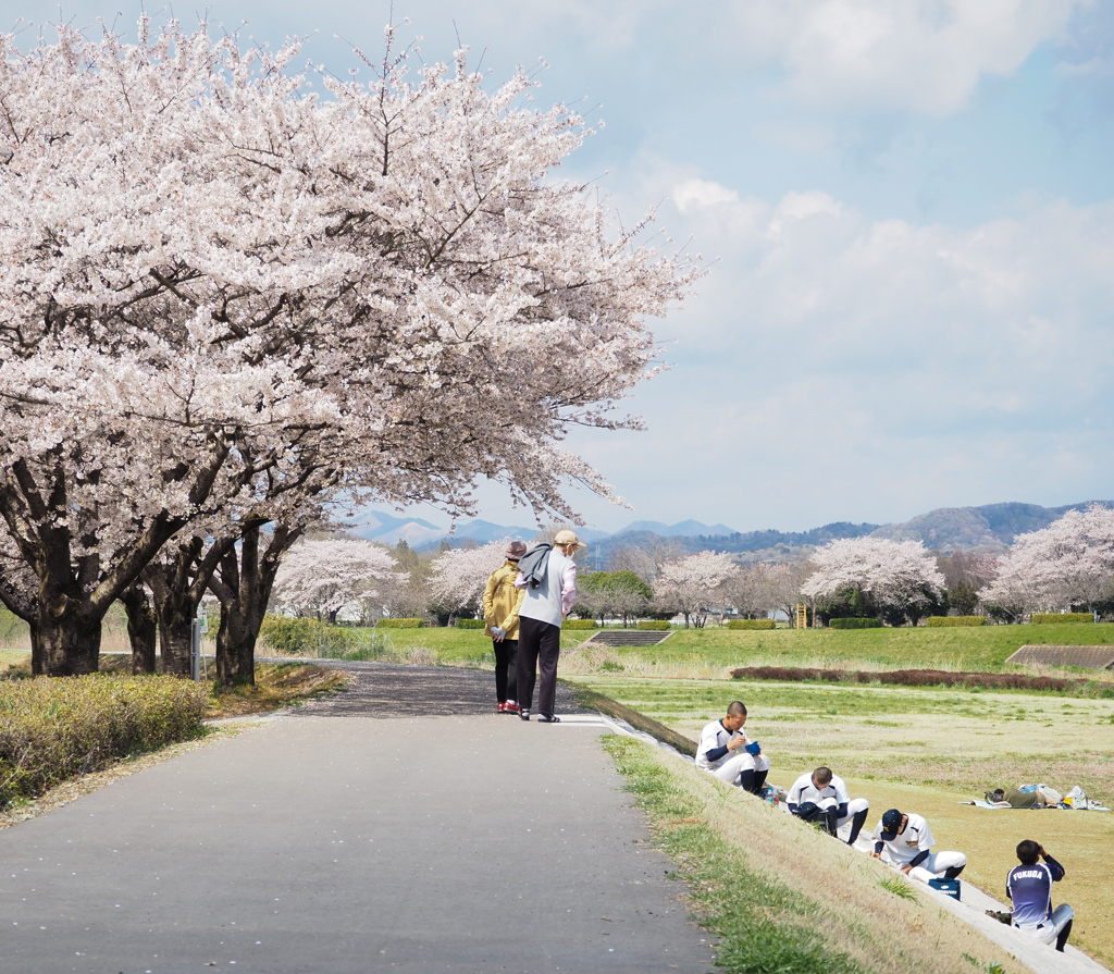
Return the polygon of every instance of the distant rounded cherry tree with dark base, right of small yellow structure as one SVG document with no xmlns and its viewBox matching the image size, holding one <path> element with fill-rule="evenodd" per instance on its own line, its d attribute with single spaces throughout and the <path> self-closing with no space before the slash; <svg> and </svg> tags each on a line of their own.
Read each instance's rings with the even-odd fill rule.
<svg viewBox="0 0 1114 974">
<path fill-rule="evenodd" d="M 916 625 L 944 594 L 944 575 L 921 542 L 841 538 L 818 548 L 801 593 L 813 601 L 864 595 L 889 622 Z"/>
</svg>

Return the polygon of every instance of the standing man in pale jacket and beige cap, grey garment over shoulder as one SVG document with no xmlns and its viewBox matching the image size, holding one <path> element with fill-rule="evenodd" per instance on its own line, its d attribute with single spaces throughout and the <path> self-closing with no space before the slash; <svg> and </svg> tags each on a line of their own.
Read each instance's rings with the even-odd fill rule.
<svg viewBox="0 0 1114 974">
<path fill-rule="evenodd" d="M 538 683 L 538 720 L 541 723 L 560 723 L 554 713 L 557 699 L 557 659 L 560 655 L 560 627 L 576 601 L 576 563 L 573 555 L 585 547 L 570 530 L 558 532 L 544 573 L 539 573 L 537 587 L 531 586 L 522 573 L 515 579 L 515 587 L 526 591 L 518 610 L 518 705 L 519 717 L 530 719 L 534 703 L 534 681 L 540 670 Z M 526 557 L 529 557 L 529 553 Z M 524 558 L 525 561 L 525 558 Z"/>
</svg>

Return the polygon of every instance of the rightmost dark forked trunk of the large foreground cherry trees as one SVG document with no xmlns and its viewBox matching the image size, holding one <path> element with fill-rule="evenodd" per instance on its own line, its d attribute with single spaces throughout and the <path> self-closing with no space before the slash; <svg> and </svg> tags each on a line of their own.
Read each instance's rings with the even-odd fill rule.
<svg viewBox="0 0 1114 974">
<path fill-rule="evenodd" d="M 225 685 L 255 683 L 255 641 L 271 601 L 275 575 L 286 549 L 303 528 L 277 525 L 270 537 L 262 525 L 247 528 L 238 551 L 221 558 L 209 579 L 209 590 L 221 601 L 221 626 L 216 634 L 216 676 Z M 261 540 L 266 544 L 262 556 Z"/>
</svg>

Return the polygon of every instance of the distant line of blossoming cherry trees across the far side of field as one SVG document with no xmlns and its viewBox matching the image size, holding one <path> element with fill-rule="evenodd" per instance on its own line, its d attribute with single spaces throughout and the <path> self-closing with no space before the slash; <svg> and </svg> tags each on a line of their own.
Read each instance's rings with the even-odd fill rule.
<svg viewBox="0 0 1114 974">
<path fill-rule="evenodd" d="M 446 549 L 429 564 L 428 584 L 414 602 L 419 613 L 479 614 L 488 575 L 505 557 L 507 542 Z M 979 608 L 1004 621 L 1033 612 L 1114 603 L 1114 510 L 1092 505 L 1068 512 L 1047 528 L 1020 535 L 1003 556 L 956 554 L 938 557 L 920 542 L 885 538 L 834 540 L 804 564 L 740 566 L 731 556 L 675 551 L 643 553 L 645 576 L 629 568 L 582 573 L 577 612 L 629 623 L 647 615 L 681 614 L 703 626 L 713 611 L 744 619 L 793 614 L 805 602 L 827 622 L 867 615 L 893 625 L 916 625 L 927 615 Z M 629 564 L 629 553 L 622 564 Z M 281 611 L 335 620 L 345 605 L 361 604 L 364 620 L 400 604 L 400 587 L 412 585 L 397 556 L 370 542 L 334 538 L 300 543 L 278 574 L 274 603 Z M 941 571 L 942 568 L 942 571 Z"/>
</svg>

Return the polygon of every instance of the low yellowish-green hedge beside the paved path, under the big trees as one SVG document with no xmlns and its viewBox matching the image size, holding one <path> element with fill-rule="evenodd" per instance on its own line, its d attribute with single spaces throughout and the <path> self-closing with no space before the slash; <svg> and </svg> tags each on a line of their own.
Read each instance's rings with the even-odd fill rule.
<svg viewBox="0 0 1114 974">
<path fill-rule="evenodd" d="M 0 682 L 0 806 L 205 732 L 205 684 L 94 674 Z"/>
</svg>

